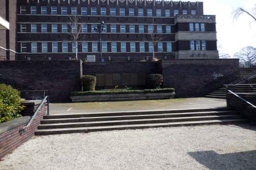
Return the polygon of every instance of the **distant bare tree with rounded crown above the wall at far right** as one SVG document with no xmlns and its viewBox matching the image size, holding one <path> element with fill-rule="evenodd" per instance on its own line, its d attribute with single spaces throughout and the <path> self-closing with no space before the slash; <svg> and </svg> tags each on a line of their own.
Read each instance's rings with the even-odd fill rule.
<svg viewBox="0 0 256 170">
<path fill-rule="evenodd" d="M 240 58 L 242 61 L 249 61 L 251 65 L 256 64 L 256 48 L 253 46 L 243 47 L 234 57 Z"/>
</svg>

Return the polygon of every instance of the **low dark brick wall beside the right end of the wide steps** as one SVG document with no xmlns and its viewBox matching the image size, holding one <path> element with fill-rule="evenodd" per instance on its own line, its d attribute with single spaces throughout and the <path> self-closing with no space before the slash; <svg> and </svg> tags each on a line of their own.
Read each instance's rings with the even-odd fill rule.
<svg viewBox="0 0 256 170">
<path fill-rule="evenodd" d="M 251 104 L 256 104 L 256 93 L 236 93 L 244 100 Z M 227 93 L 227 107 L 236 110 L 251 120 L 251 123 L 256 123 L 256 108 L 239 99 L 234 94 Z"/>
</svg>

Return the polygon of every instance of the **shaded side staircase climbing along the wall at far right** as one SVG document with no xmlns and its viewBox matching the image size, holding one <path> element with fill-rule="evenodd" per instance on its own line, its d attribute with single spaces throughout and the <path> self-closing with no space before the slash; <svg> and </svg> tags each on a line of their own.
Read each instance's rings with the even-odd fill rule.
<svg viewBox="0 0 256 170">
<path fill-rule="evenodd" d="M 256 86 L 256 68 L 240 68 L 239 69 L 240 79 L 231 82 L 231 85 L 239 85 L 239 84 L 252 84 L 252 89 L 245 88 L 243 85 L 239 85 L 236 87 L 236 92 L 256 92 L 254 91 L 254 87 Z M 228 88 L 232 88 L 232 86 L 222 86 L 215 91 L 212 91 L 205 95 L 205 98 L 217 98 L 217 99 L 226 99 L 226 90 Z M 232 89 L 234 90 L 234 89 Z"/>
</svg>

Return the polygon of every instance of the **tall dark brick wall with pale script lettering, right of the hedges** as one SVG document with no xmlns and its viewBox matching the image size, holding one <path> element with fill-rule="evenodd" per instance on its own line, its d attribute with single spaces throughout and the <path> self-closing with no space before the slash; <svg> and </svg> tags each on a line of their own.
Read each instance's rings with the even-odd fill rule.
<svg viewBox="0 0 256 170">
<path fill-rule="evenodd" d="M 239 78 L 234 74 L 214 79 L 215 74 L 227 76 L 239 68 L 238 59 L 177 59 L 162 62 L 164 87 L 174 87 L 176 97 L 204 94 Z"/>
</svg>

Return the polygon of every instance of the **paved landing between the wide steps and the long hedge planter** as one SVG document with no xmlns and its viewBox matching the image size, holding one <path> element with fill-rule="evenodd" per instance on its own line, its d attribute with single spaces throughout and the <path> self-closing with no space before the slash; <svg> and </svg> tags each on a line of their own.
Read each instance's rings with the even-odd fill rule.
<svg viewBox="0 0 256 170">
<path fill-rule="evenodd" d="M 123 102 L 53 103 L 50 114 L 226 107 L 225 99 L 186 98 Z"/>
</svg>

